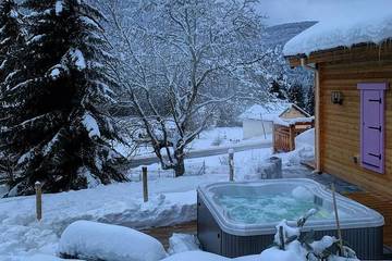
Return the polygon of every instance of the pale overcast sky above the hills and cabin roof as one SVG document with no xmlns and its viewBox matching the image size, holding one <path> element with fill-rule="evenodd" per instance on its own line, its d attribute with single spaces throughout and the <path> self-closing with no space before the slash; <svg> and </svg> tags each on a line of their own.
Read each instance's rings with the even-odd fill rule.
<svg viewBox="0 0 392 261">
<path fill-rule="evenodd" d="M 275 25 L 331 18 L 336 12 L 360 9 L 369 2 L 391 8 L 392 0 L 260 0 L 259 10 L 269 16 L 266 24 Z"/>
</svg>

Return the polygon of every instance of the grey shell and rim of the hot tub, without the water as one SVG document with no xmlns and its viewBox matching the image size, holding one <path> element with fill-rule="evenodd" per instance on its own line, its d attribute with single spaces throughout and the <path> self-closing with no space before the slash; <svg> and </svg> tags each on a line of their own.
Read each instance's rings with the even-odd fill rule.
<svg viewBox="0 0 392 261">
<path fill-rule="evenodd" d="M 197 191 L 197 236 L 205 251 L 218 253 L 229 258 L 260 253 L 271 246 L 275 225 L 279 221 L 268 224 L 238 224 L 228 221 L 219 206 L 211 198 L 213 188 L 222 188 L 223 191 L 235 192 L 235 186 L 260 186 L 266 188 L 269 184 L 285 186 L 306 186 L 311 188 L 315 198 L 322 198 L 328 203 L 331 192 L 318 183 L 306 178 L 270 179 L 253 183 L 218 183 L 199 187 Z M 353 217 L 342 220 L 342 235 L 357 253 L 359 259 L 382 259 L 383 238 L 382 215 L 378 212 L 359 204 L 351 199 L 338 195 L 339 208 L 352 211 Z M 323 222 L 323 221 L 322 221 Z M 316 239 L 324 235 L 338 236 L 334 221 L 323 222 L 308 221 L 304 232 L 315 231 Z"/>
</svg>

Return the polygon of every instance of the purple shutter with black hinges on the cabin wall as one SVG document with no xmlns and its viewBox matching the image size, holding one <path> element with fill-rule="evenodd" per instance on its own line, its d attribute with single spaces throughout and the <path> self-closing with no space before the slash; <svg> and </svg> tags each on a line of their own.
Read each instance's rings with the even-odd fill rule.
<svg viewBox="0 0 392 261">
<path fill-rule="evenodd" d="M 384 172 L 384 91 L 387 84 L 358 84 L 360 89 L 360 159 L 368 170 Z"/>
</svg>

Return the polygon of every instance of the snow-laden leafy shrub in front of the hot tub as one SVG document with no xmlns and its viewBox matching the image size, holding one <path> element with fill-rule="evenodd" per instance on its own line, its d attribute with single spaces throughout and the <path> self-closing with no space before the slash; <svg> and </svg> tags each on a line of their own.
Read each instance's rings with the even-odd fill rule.
<svg viewBox="0 0 392 261">
<path fill-rule="evenodd" d="M 302 216 L 296 226 L 290 226 L 285 220 L 277 225 L 273 247 L 266 249 L 260 254 L 260 261 L 354 261 L 355 251 L 347 246 L 340 247 L 335 237 L 323 236 L 315 240 L 314 232 L 302 234 L 306 221 L 317 213 L 309 210 Z"/>
</svg>

